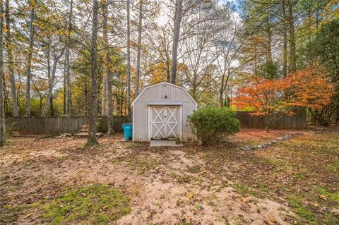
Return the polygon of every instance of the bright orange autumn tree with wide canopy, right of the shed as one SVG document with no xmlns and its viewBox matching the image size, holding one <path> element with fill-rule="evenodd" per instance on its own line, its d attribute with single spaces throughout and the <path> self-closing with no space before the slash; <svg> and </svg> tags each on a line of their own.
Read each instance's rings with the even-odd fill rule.
<svg viewBox="0 0 339 225">
<path fill-rule="evenodd" d="M 283 79 L 254 78 L 239 87 L 234 106 L 250 108 L 251 115 L 265 116 L 265 128 L 283 114 L 295 114 L 297 109 L 318 112 L 331 102 L 333 86 L 326 79 L 326 71 L 312 64 Z"/>
</svg>

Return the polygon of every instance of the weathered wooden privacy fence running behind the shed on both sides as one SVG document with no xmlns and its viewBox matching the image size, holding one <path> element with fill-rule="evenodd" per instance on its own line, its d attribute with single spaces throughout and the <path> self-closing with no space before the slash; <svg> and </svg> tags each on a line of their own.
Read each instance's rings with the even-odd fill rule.
<svg viewBox="0 0 339 225">
<path fill-rule="evenodd" d="M 237 111 L 237 118 L 242 128 L 265 128 L 262 116 L 251 116 L 249 112 Z M 122 123 L 131 123 L 130 116 L 114 116 L 114 131 L 121 132 Z M 35 118 L 6 118 L 7 129 L 17 131 L 21 135 L 52 135 L 57 133 L 76 133 L 81 124 L 88 123 L 88 116 L 71 117 L 35 117 Z M 273 123 L 271 129 L 306 128 L 306 113 L 294 116 L 282 115 Z M 107 116 L 98 117 L 98 131 L 107 132 Z"/>
</svg>

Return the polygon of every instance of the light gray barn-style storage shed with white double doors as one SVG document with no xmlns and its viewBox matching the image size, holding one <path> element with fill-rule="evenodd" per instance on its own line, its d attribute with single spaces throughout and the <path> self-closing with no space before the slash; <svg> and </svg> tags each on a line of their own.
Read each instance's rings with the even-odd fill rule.
<svg viewBox="0 0 339 225">
<path fill-rule="evenodd" d="M 146 86 L 132 107 L 133 141 L 196 140 L 187 116 L 198 104 L 186 88 L 168 82 Z"/>
</svg>

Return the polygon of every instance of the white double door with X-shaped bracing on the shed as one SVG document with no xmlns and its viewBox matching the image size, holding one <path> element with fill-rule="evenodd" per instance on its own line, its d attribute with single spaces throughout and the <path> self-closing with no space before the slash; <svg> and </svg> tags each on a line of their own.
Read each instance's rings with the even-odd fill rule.
<svg viewBox="0 0 339 225">
<path fill-rule="evenodd" d="M 179 106 L 151 106 L 150 138 L 157 140 L 179 138 L 180 118 Z"/>
</svg>

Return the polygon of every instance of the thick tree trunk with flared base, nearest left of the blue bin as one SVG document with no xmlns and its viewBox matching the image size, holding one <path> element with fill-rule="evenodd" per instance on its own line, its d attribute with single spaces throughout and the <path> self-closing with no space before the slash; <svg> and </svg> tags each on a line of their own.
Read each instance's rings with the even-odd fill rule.
<svg viewBox="0 0 339 225">
<path fill-rule="evenodd" d="M 99 4 L 97 0 L 93 0 L 93 22 L 92 22 L 92 40 L 91 40 L 91 74 L 90 83 L 90 115 L 89 115 L 89 130 L 86 146 L 98 145 L 97 142 L 97 15 Z"/>
</svg>

